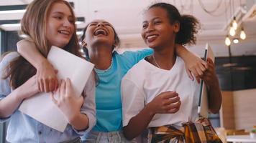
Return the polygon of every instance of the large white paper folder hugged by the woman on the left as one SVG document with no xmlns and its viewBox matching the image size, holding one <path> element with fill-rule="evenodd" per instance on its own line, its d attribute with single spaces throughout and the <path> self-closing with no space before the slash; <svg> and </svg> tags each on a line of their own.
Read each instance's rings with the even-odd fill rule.
<svg viewBox="0 0 256 143">
<path fill-rule="evenodd" d="M 70 78 L 76 96 L 80 96 L 94 65 L 56 46 L 50 49 L 47 60 L 58 70 L 59 80 Z M 19 110 L 52 129 L 64 132 L 68 120 L 52 102 L 50 94 L 50 92 L 41 92 L 25 99 Z"/>
</svg>

